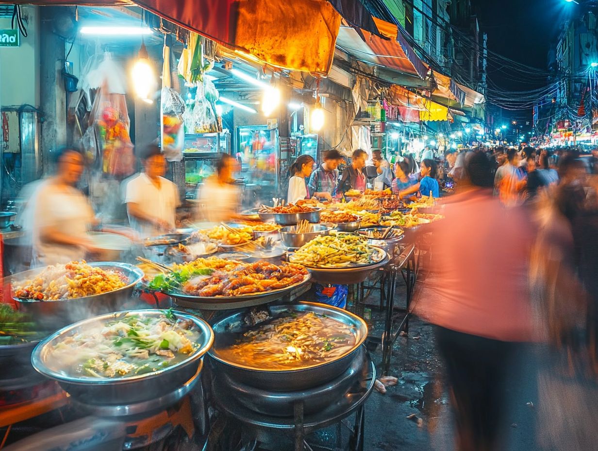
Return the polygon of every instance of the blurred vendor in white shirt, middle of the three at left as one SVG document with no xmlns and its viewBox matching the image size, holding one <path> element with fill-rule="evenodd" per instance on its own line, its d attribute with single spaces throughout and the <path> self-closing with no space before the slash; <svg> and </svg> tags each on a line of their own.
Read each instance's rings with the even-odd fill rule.
<svg viewBox="0 0 598 451">
<path fill-rule="evenodd" d="M 181 205 L 178 189 L 164 178 L 166 158 L 155 144 L 140 152 L 143 172 L 128 181 L 125 202 L 130 225 L 142 237 L 169 232 L 176 227 L 176 207 Z"/>
</svg>

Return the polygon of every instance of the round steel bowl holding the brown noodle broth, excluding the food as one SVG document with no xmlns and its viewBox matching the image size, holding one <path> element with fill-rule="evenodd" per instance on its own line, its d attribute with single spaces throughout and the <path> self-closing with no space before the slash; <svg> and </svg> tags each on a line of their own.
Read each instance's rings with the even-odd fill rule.
<svg viewBox="0 0 598 451">
<path fill-rule="evenodd" d="M 332 307 L 315 302 L 298 302 L 297 304 L 269 305 L 264 307 L 271 316 L 276 316 L 284 311 L 313 311 L 325 314 L 333 319 L 346 323 L 354 328 L 356 335 L 355 346 L 344 355 L 326 362 L 315 364 L 311 367 L 297 368 L 295 370 L 271 370 L 259 367 L 248 367 L 229 361 L 222 357 L 220 350 L 230 346 L 248 327 L 244 318 L 246 310 L 237 311 L 231 316 L 213 323 L 212 328 L 215 334 L 214 345 L 208 354 L 213 359 L 216 371 L 222 371 L 234 380 L 246 385 L 274 392 L 288 392 L 303 390 L 314 386 L 322 385 L 347 371 L 353 359 L 358 354 L 359 346 L 368 335 L 368 326 L 364 320 L 342 308 Z"/>
</svg>

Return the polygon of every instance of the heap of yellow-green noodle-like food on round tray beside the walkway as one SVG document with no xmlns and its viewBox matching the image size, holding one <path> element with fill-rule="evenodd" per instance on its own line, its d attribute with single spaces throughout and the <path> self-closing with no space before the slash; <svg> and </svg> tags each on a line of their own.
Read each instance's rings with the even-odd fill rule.
<svg viewBox="0 0 598 451">
<path fill-rule="evenodd" d="M 352 234 L 332 234 L 314 238 L 289 257 L 306 267 L 348 267 L 374 264 L 382 259 L 379 250 L 368 246 L 367 239 Z"/>
</svg>

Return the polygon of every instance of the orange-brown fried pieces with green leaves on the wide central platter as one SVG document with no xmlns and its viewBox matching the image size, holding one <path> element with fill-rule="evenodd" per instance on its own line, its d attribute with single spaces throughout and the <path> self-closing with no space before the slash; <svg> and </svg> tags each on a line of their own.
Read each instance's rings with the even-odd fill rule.
<svg viewBox="0 0 598 451">
<path fill-rule="evenodd" d="M 303 282 L 306 276 L 306 269 L 300 265 L 207 258 L 175 265 L 172 273 L 155 276 L 149 287 L 201 297 L 242 296 L 283 289 Z"/>
</svg>

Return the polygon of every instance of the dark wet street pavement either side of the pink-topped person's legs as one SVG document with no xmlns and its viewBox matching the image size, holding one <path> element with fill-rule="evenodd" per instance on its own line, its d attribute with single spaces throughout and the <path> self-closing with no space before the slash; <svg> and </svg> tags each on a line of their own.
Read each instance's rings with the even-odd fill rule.
<svg viewBox="0 0 598 451">
<path fill-rule="evenodd" d="M 372 304 L 370 335 L 380 337 L 379 294 L 366 302 Z M 396 302 L 404 305 L 400 289 Z M 417 295 L 414 302 L 419 302 Z M 379 369 L 380 346 L 372 358 Z M 570 370 L 565 352 L 537 344 L 520 350 L 509 374 L 501 451 L 598 449 L 598 383 L 580 360 L 576 370 Z M 398 377 L 398 384 L 388 387 L 386 394 L 374 391 L 366 404 L 365 451 L 453 450 L 453 413 L 434 326 L 411 318 L 408 336 L 398 337 L 393 347 L 388 375 Z"/>
</svg>

